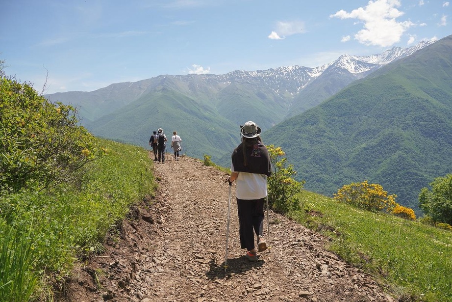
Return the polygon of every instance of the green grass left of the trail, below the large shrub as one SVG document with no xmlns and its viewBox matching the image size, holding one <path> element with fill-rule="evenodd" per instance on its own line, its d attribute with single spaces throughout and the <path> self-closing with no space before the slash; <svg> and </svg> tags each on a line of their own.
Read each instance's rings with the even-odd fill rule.
<svg viewBox="0 0 452 302">
<path fill-rule="evenodd" d="M 28 301 L 23 293 L 30 288 L 30 297 L 50 301 L 45 293 L 64 282 L 74 261 L 101 251 L 106 234 L 115 231 L 130 206 L 155 191 L 145 149 L 101 143 L 106 154 L 92 163 L 78 188 L 0 194 L 0 259 L 8 260 L 0 262 L 1 301 Z"/>
</svg>

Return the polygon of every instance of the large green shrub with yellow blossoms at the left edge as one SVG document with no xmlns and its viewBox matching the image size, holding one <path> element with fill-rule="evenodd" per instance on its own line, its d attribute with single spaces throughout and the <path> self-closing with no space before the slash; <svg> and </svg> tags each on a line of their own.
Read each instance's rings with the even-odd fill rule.
<svg viewBox="0 0 452 302">
<path fill-rule="evenodd" d="M 0 190 L 79 181 L 100 150 L 76 110 L 52 104 L 27 83 L 0 78 Z"/>
</svg>

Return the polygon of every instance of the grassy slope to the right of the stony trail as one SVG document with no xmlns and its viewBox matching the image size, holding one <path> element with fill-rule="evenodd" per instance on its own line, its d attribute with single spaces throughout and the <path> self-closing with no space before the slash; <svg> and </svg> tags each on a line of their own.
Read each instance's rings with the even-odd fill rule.
<svg viewBox="0 0 452 302">
<path fill-rule="evenodd" d="M 328 247 L 410 301 L 452 301 L 452 232 L 340 204 L 303 191 L 302 224 L 332 238 Z M 404 300 L 405 301 L 405 300 Z"/>
</svg>

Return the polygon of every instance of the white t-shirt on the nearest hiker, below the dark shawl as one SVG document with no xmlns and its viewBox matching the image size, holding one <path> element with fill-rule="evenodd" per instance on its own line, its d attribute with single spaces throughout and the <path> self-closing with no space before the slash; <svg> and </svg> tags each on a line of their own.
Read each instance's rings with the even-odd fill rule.
<svg viewBox="0 0 452 302">
<path fill-rule="evenodd" d="M 231 172 L 234 165 L 231 164 Z M 248 172 L 235 172 L 237 176 L 236 196 L 239 199 L 261 199 L 267 196 L 267 175 Z"/>
</svg>

